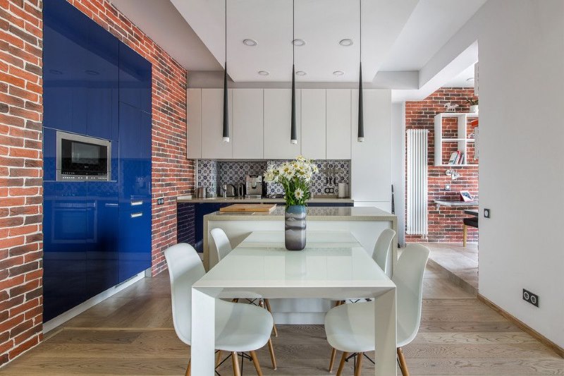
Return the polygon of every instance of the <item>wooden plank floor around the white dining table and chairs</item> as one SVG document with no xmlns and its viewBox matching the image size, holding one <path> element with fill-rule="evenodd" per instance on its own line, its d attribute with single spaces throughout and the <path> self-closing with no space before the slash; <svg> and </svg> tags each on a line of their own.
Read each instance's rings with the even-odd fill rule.
<svg viewBox="0 0 564 376">
<path fill-rule="evenodd" d="M 278 370 L 271 369 L 266 348 L 257 352 L 264 375 L 329 375 L 330 348 L 322 326 L 284 325 L 278 333 L 273 339 Z M 404 353 L 414 376 L 564 375 L 562 358 L 432 265 L 424 280 L 421 328 Z M 55 329 L 42 344 L 1 368 L 0 375 L 184 375 L 188 356 L 188 346 L 173 330 L 164 273 Z M 363 375 L 374 375 L 367 363 Z M 221 375 L 232 375 L 230 364 L 219 370 Z M 352 374 L 348 362 L 345 375 Z M 243 375 L 255 375 L 248 360 Z"/>
</svg>

